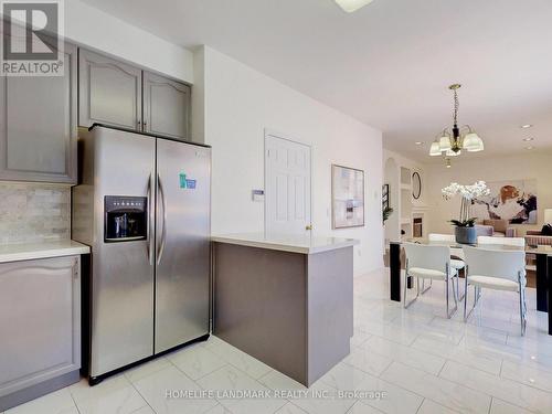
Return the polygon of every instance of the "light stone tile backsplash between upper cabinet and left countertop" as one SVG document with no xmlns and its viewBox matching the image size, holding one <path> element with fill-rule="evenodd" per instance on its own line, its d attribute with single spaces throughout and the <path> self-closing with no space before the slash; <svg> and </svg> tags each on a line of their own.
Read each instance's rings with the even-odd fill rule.
<svg viewBox="0 0 552 414">
<path fill-rule="evenodd" d="M 71 188 L 0 182 L 0 243 L 70 237 Z"/>
</svg>

